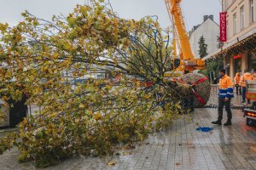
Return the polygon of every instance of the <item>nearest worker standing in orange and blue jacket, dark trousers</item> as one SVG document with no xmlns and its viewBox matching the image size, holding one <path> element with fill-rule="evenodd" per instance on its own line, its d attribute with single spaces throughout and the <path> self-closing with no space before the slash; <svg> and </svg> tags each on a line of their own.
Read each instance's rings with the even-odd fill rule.
<svg viewBox="0 0 256 170">
<path fill-rule="evenodd" d="M 212 122 L 212 124 L 221 125 L 223 119 L 223 107 L 225 105 L 225 110 L 227 111 L 228 120 L 224 123 L 224 126 L 229 126 L 232 124 L 232 112 L 230 109 L 231 99 L 234 98 L 233 94 L 233 84 L 230 77 L 225 74 L 225 70 L 221 69 L 219 71 L 219 91 L 218 91 L 218 120 Z"/>
</svg>

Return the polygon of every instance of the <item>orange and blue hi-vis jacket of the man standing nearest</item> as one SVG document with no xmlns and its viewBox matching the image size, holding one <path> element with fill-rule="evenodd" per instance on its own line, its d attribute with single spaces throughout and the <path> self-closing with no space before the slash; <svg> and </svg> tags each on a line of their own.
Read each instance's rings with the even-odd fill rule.
<svg viewBox="0 0 256 170">
<path fill-rule="evenodd" d="M 219 79 L 219 98 L 234 98 L 233 94 L 233 83 L 230 77 L 224 75 Z"/>
</svg>

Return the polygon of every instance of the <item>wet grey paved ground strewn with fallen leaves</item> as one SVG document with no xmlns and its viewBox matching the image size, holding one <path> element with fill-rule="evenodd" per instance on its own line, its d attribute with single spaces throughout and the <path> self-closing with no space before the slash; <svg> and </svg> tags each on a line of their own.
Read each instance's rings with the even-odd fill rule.
<svg viewBox="0 0 256 170">
<path fill-rule="evenodd" d="M 238 105 L 239 100 L 233 103 Z M 230 127 L 212 126 L 216 109 L 196 109 L 192 116 L 192 121 L 178 119 L 166 132 L 150 134 L 134 150 L 102 158 L 74 157 L 46 169 L 256 169 L 256 129 L 246 126 L 241 111 L 233 111 Z M 198 126 L 213 130 L 201 133 Z M 0 156 L 0 169 L 36 169 L 32 162 L 18 163 L 18 154 L 11 150 Z M 108 166 L 109 162 L 114 165 Z"/>
</svg>

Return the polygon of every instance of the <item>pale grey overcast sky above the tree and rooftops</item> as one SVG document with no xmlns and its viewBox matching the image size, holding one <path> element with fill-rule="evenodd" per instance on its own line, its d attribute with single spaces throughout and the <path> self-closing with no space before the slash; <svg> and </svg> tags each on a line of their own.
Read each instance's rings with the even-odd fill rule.
<svg viewBox="0 0 256 170">
<path fill-rule="evenodd" d="M 20 13 L 28 10 L 30 13 L 44 19 L 51 19 L 53 14 L 65 14 L 73 11 L 77 3 L 84 4 L 88 0 L 0 0 L 0 22 L 14 26 L 22 17 Z M 158 15 L 162 27 L 170 26 L 166 12 L 165 0 L 110 0 L 113 9 L 120 17 L 140 19 L 146 15 Z M 220 0 L 183 0 L 183 14 L 187 29 L 200 24 L 204 14 L 214 14 L 218 23 L 218 13 L 221 10 Z"/>
</svg>

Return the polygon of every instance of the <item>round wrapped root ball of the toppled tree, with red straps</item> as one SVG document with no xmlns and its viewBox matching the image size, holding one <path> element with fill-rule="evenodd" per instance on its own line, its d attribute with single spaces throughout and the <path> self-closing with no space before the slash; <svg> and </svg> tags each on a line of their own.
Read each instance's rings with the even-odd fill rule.
<svg viewBox="0 0 256 170">
<path fill-rule="evenodd" d="M 193 84 L 199 81 L 203 77 L 206 77 L 206 76 L 199 73 L 188 73 L 188 74 L 185 74 L 182 79 L 183 79 L 183 82 L 187 82 L 188 84 Z M 195 89 L 195 92 L 199 94 L 201 98 L 204 99 L 205 102 L 207 103 L 211 94 L 211 84 L 209 80 L 207 79 L 204 82 L 200 82 L 196 84 L 193 88 Z M 195 95 L 194 95 L 194 106 L 195 108 L 204 106 L 203 104 L 201 104 L 201 102 L 197 99 Z"/>
</svg>

